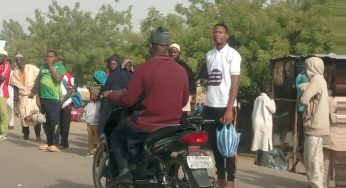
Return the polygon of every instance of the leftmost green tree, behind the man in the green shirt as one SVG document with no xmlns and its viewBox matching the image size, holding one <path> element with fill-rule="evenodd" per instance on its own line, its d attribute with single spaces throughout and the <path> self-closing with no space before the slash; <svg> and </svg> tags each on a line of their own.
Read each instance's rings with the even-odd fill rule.
<svg viewBox="0 0 346 188">
<path fill-rule="evenodd" d="M 104 60 L 111 54 L 128 57 L 127 44 L 136 35 L 132 33 L 132 7 L 116 11 L 112 6 L 104 5 L 95 17 L 79 7 L 79 3 L 70 8 L 53 1 L 47 13 L 36 10 L 35 18 L 27 19 L 29 34 L 11 20 L 4 22 L 1 35 L 9 41 L 11 54 L 21 51 L 27 62 L 36 65 L 44 62 L 47 49 L 56 49 L 77 81 L 85 83 L 92 80 L 95 70 L 106 68 Z"/>
</svg>

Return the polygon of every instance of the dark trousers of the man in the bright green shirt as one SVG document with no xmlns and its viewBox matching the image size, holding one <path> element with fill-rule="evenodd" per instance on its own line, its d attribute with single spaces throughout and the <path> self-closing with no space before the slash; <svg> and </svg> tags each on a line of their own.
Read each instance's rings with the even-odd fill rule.
<svg viewBox="0 0 346 188">
<path fill-rule="evenodd" d="M 43 124 L 43 130 L 47 136 L 47 145 L 51 146 L 56 139 L 56 131 L 60 123 L 60 102 L 55 99 L 41 98 L 41 113 L 46 114 L 46 123 Z M 55 137 L 55 138 L 54 138 Z"/>
</svg>

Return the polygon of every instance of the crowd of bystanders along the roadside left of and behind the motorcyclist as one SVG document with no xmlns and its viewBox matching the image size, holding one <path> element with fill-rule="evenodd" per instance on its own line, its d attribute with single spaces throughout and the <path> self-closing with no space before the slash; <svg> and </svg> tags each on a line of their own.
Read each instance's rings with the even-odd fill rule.
<svg viewBox="0 0 346 188">
<path fill-rule="evenodd" d="M 186 70 L 189 80 L 189 101 L 195 100 L 195 76 L 188 64 L 180 59 L 180 50 L 179 44 L 170 44 L 167 55 Z M 0 140 L 6 140 L 8 129 L 13 129 L 13 109 L 18 109 L 24 140 L 29 139 L 30 127 L 33 127 L 36 140 L 42 141 L 43 126 L 47 143 L 40 145 L 39 149 L 57 152 L 68 148 L 72 95 L 77 87 L 73 74 L 66 71 L 63 57 L 60 57 L 54 49 L 49 49 L 46 53 L 46 63 L 40 67 L 26 63 L 21 53 L 14 56 L 15 65 L 12 65 L 5 50 L 1 50 L 0 57 Z M 132 61 L 130 59 L 122 61 L 118 55 L 109 57 L 106 64 L 106 72 L 96 71 L 92 76 L 98 87 L 89 88 L 90 102 L 85 106 L 82 115 L 82 120 L 88 125 L 89 146 L 86 155 L 88 157 L 93 155 L 94 146 L 91 148 L 91 145 L 96 145 L 98 137 L 104 135 L 109 112 L 117 106 L 112 105 L 108 98 L 102 98 L 101 91 L 124 90 L 134 73 Z M 200 108 L 198 110 L 201 111 Z M 183 108 L 182 119 L 186 119 L 189 111 L 191 111 L 190 102 Z"/>
</svg>

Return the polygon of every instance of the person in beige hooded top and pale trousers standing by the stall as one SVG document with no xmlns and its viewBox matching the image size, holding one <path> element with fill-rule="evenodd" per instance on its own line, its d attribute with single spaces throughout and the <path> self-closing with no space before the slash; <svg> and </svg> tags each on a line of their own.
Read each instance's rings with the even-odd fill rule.
<svg viewBox="0 0 346 188">
<path fill-rule="evenodd" d="M 305 60 L 309 84 L 301 84 L 300 102 L 304 112 L 304 161 L 310 187 L 323 188 L 323 137 L 329 135 L 328 87 L 323 77 L 324 63 L 321 58 Z"/>
</svg>

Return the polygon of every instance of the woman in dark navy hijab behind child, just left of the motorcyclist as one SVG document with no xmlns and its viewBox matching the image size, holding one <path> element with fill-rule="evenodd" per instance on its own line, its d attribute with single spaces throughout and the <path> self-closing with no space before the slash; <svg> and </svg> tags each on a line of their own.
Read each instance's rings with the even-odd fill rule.
<svg viewBox="0 0 346 188">
<path fill-rule="evenodd" d="M 114 91 L 121 92 L 127 87 L 128 78 L 126 73 L 121 68 L 121 60 L 118 55 L 113 55 L 107 60 L 108 78 L 106 83 L 102 86 L 102 92 Z M 116 108 L 106 97 L 101 99 L 100 121 L 98 132 L 100 135 L 104 134 L 107 118 L 112 109 Z"/>
</svg>

